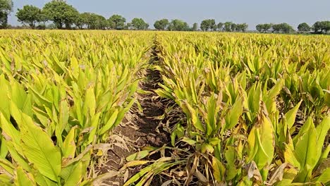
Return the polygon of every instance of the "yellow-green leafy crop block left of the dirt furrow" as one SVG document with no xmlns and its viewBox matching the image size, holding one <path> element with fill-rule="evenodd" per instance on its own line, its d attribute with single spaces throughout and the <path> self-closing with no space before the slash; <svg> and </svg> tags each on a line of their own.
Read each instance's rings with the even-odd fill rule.
<svg viewBox="0 0 330 186">
<path fill-rule="evenodd" d="M 152 38 L 0 35 L 1 185 L 89 185 L 102 144 L 135 102 Z"/>
</svg>

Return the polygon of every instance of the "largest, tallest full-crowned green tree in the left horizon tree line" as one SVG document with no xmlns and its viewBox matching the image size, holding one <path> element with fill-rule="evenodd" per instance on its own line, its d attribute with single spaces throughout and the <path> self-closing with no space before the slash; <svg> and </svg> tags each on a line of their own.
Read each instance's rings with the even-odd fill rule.
<svg viewBox="0 0 330 186">
<path fill-rule="evenodd" d="M 52 20 L 59 29 L 63 28 L 63 25 L 70 28 L 79 16 L 78 11 L 63 0 L 50 1 L 43 9 L 49 20 Z"/>
</svg>

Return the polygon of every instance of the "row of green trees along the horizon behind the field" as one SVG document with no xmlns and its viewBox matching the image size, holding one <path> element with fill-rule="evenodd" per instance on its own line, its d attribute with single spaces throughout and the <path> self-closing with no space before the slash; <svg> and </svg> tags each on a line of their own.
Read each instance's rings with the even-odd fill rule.
<svg viewBox="0 0 330 186">
<path fill-rule="evenodd" d="M 12 0 L 0 0 L 0 28 L 8 27 L 8 15 L 13 11 Z M 133 18 L 126 23 L 126 18 L 120 15 L 113 15 L 106 19 L 104 16 L 96 13 L 79 13 L 76 8 L 63 0 L 52 0 L 38 8 L 33 5 L 25 5 L 18 8 L 16 17 L 23 25 L 28 25 L 32 29 L 88 29 L 88 30 L 148 30 L 149 24 L 142 18 Z M 48 24 L 51 21 L 51 24 Z M 247 23 L 216 23 L 214 19 L 202 20 L 200 30 L 202 31 L 225 31 L 225 32 L 245 32 Z M 156 30 L 169 31 L 197 31 L 198 24 L 194 23 L 192 27 L 183 20 L 161 19 L 154 23 Z M 275 32 L 275 33 L 291 33 L 295 32 L 293 27 L 288 23 L 280 24 L 258 24 L 256 26 L 258 32 Z M 307 23 L 298 25 L 298 32 L 322 34 L 328 33 L 330 30 L 330 21 L 317 21 L 310 26 Z"/>
</svg>

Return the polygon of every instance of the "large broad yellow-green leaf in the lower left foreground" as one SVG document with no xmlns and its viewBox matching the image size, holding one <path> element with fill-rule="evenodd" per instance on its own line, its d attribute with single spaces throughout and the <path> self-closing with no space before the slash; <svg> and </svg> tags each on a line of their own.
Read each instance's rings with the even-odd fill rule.
<svg viewBox="0 0 330 186">
<path fill-rule="evenodd" d="M 25 113 L 22 113 L 22 121 L 21 144 L 25 156 L 42 175 L 57 182 L 61 173 L 61 152 L 47 133 L 37 127 Z"/>
</svg>

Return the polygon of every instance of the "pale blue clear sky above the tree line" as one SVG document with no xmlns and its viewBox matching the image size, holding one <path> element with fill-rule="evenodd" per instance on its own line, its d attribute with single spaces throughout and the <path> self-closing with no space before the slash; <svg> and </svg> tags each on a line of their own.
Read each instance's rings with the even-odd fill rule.
<svg viewBox="0 0 330 186">
<path fill-rule="evenodd" d="M 48 0 L 50 1 L 50 0 Z M 13 0 L 15 11 L 11 13 L 9 24 L 18 25 L 15 16 L 17 8 L 25 4 L 42 7 L 47 0 Z M 98 13 L 106 18 L 114 13 L 130 21 L 143 18 L 151 27 L 155 20 L 178 18 L 190 25 L 206 18 L 214 18 L 216 23 L 233 21 L 247 23 L 249 30 L 255 30 L 258 23 L 289 23 L 297 27 L 306 22 L 312 25 L 317 20 L 330 20 L 330 0 L 68 0 L 80 12 Z"/>
</svg>

